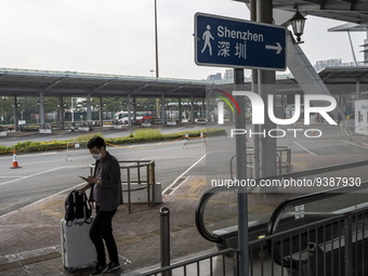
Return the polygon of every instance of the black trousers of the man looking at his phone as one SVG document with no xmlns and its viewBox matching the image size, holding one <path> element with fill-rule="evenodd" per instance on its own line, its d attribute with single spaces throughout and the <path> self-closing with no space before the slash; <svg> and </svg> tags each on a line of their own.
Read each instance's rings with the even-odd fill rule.
<svg viewBox="0 0 368 276">
<path fill-rule="evenodd" d="M 96 216 L 92 223 L 90 229 L 90 238 L 96 248 L 97 251 L 97 262 L 101 265 L 106 265 L 106 253 L 104 241 L 106 244 L 108 257 L 111 262 L 118 263 L 118 249 L 116 247 L 115 238 L 113 235 L 113 216 L 116 213 L 114 211 L 100 211 L 100 208 L 96 207 Z"/>
</svg>

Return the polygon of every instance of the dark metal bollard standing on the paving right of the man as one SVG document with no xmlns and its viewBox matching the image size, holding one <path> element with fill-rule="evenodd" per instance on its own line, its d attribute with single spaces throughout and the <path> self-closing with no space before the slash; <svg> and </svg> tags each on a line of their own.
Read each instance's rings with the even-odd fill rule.
<svg viewBox="0 0 368 276">
<path fill-rule="evenodd" d="M 168 207 L 160 208 L 160 242 L 161 242 L 161 267 L 170 265 L 170 210 Z M 165 272 L 163 276 L 171 276 L 171 272 Z"/>
</svg>

